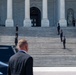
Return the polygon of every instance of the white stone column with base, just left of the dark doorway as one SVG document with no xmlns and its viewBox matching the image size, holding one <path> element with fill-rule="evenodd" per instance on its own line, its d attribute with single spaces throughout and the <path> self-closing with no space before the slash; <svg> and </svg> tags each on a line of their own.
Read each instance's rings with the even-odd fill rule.
<svg viewBox="0 0 76 75">
<path fill-rule="evenodd" d="M 24 26 L 31 27 L 31 20 L 30 20 L 30 0 L 25 0 L 25 19 L 24 19 Z"/>
</svg>

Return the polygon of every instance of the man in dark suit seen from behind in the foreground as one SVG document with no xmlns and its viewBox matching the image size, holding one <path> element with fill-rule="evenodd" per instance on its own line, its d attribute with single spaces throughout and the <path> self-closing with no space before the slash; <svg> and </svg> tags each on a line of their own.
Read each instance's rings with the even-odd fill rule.
<svg viewBox="0 0 76 75">
<path fill-rule="evenodd" d="M 8 75 L 33 75 L 33 58 L 27 54 L 28 43 L 21 39 L 18 52 L 9 59 Z"/>
</svg>

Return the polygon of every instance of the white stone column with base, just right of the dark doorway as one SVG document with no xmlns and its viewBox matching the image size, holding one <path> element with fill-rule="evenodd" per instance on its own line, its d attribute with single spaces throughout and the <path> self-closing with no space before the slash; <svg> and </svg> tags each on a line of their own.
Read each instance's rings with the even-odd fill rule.
<svg viewBox="0 0 76 75">
<path fill-rule="evenodd" d="M 48 10 L 47 10 L 47 0 L 42 0 L 42 27 L 49 27 L 49 20 L 48 20 Z"/>
</svg>

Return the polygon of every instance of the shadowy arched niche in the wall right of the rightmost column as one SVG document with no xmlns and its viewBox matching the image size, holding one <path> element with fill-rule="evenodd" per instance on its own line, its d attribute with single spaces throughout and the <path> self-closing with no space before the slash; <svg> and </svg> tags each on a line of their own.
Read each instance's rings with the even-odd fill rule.
<svg viewBox="0 0 76 75">
<path fill-rule="evenodd" d="M 75 26 L 74 10 L 72 8 L 67 11 L 67 25 Z"/>
</svg>

